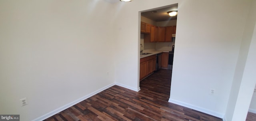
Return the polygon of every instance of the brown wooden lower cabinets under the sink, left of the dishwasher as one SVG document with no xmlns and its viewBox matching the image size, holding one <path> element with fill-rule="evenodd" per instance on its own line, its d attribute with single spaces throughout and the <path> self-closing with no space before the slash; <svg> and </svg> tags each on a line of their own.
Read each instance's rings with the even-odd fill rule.
<svg viewBox="0 0 256 121">
<path fill-rule="evenodd" d="M 156 55 L 140 59 L 140 81 L 156 70 Z"/>
</svg>

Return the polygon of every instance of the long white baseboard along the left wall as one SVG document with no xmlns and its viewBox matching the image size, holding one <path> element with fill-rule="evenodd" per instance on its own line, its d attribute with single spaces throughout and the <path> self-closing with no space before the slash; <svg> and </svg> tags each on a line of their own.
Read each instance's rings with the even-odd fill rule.
<svg viewBox="0 0 256 121">
<path fill-rule="evenodd" d="M 64 111 L 65 109 L 67 109 L 67 108 L 69 108 L 69 107 L 71 107 L 73 105 L 76 105 L 77 103 L 79 103 L 79 102 L 81 102 L 81 101 L 83 101 L 83 100 L 85 100 L 85 99 L 87 99 L 89 97 L 92 97 L 93 95 L 96 95 L 97 93 L 100 93 L 101 91 L 103 91 L 105 89 L 108 89 L 109 87 L 112 87 L 113 85 L 115 85 L 115 83 L 111 83 L 110 85 L 102 87 L 102 88 L 100 88 L 100 89 L 98 89 L 98 90 L 96 90 L 96 91 L 94 91 L 94 92 L 92 92 L 92 93 L 90 93 L 88 95 L 85 95 L 84 97 L 81 97 L 81 98 L 79 98 L 79 99 L 77 99 L 75 101 L 72 101 L 72 102 L 70 102 L 70 103 L 68 103 L 66 105 L 63 105 L 62 107 L 59 107 L 58 109 L 55 109 L 55 110 L 53 110 L 53 111 L 51 111 L 49 113 L 46 113 L 46 114 L 44 114 L 44 115 L 42 115 L 42 116 L 40 116 L 40 117 L 38 117 L 38 118 L 36 118 L 36 119 L 34 119 L 32 121 L 42 121 L 42 120 L 45 120 L 48 117 L 51 117 L 51 116 L 53 116 L 53 115 L 55 115 L 57 113 L 60 113 L 61 111 Z"/>
</svg>

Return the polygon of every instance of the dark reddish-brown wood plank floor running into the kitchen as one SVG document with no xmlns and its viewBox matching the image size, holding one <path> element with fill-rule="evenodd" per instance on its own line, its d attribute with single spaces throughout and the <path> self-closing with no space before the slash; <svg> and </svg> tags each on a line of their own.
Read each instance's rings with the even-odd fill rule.
<svg viewBox="0 0 256 121">
<path fill-rule="evenodd" d="M 140 91 L 114 85 L 44 121 L 222 121 L 169 103 L 171 70 L 140 82 Z"/>
</svg>

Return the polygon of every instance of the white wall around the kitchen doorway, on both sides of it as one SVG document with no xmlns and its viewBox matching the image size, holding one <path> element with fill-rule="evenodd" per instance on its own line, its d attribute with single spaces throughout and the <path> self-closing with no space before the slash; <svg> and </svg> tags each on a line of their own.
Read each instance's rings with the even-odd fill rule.
<svg viewBox="0 0 256 121">
<path fill-rule="evenodd" d="M 244 13 L 248 13 L 247 0 L 134 0 L 117 3 L 119 17 L 114 31 L 119 51 L 115 58 L 115 80 L 132 88 L 139 87 L 138 11 L 177 2 L 179 15 L 170 101 L 223 117 L 246 22 Z M 122 45 L 126 47 L 121 48 Z M 216 89 L 215 95 L 209 95 L 210 88 Z"/>
</svg>

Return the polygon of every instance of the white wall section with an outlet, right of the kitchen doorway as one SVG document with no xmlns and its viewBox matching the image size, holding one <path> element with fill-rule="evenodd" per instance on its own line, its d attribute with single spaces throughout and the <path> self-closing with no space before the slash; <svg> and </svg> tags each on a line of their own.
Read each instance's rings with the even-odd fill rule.
<svg viewBox="0 0 256 121">
<path fill-rule="evenodd" d="M 224 117 L 248 5 L 244 0 L 179 3 L 171 102 Z"/>
</svg>

